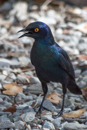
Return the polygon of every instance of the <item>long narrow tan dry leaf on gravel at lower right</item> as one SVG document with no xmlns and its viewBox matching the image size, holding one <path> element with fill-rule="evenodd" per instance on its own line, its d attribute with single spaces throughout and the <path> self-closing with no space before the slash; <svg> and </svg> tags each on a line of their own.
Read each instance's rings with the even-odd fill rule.
<svg viewBox="0 0 87 130">
<path fill-rule="evenodd" d="M 69 112 L 69 113 L 64 113 L 62 116 L 64 118 L 77 118 L 77 117 L 83 115 L 85 112 L 86 112 L 85 109 L 79 109 L 77 111 L 72 111 L 72 112 Z"/>
</svg>

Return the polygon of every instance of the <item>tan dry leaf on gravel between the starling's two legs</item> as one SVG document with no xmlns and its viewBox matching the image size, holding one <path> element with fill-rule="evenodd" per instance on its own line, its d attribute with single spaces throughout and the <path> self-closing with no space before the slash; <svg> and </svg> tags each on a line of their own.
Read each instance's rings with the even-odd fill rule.
<svg viewBox="0 0 87 130">
<path fill-rule="evenodd" d="M 58 104 L 60 100 L 62 100 L 59 96 L 59 93 L 53 92 L 46 97 L 46 99 L 50 100 L 54 104 Z"/>
</svg>

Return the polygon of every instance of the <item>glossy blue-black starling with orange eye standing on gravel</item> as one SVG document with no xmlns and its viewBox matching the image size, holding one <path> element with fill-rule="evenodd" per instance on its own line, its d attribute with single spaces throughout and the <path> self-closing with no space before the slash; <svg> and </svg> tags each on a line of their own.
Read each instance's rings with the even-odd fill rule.
<svg viewBox="0 0 87 130">
<path fill-rule="evenodd" d="M 19 38 L 27 36 L 35 39 L 30 58 L 35 66 L 36 74 L 44 92 L 38 112 L 41 112 L 42 104 L 48 91 L 47 83 L 50 81 L 60 82 L 63 90 L 61 115 L 64 109 L 67 88 L 74 94 L 82 94 L 82 91 L 76 85 L 75 74 L 69 56 L 55 42 L 50 28 L 43 22 L 33 22 L 19 32 L 25 32 Z"/>
</svg>

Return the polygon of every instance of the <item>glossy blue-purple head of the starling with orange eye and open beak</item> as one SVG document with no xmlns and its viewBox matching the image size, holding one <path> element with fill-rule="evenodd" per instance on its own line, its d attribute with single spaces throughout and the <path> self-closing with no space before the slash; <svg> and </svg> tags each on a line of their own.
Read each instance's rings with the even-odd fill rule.
<svg viewBox="0 0 87 130">
<path fill-rule="evenodd" d="M 19 32 L 24 32 L 19 38 L 27 36 L 36 39 L 53 38 L 50 28 L 43 22 L 30 23 L 25 29 Z"/>
</svg>

